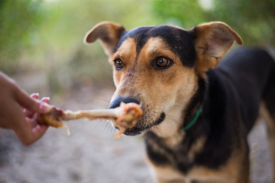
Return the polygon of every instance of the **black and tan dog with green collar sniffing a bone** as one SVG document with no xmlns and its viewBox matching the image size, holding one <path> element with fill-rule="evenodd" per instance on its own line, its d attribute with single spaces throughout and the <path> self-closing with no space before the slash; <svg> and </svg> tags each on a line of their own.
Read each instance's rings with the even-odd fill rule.
<svg viewBox="0 0 275 183">
<path fill-rule="evenodd" d="M 275 62 L 267 52 L 241 48 L 221 61 L 234 41 L 243 44 L 223 22 L 130 31 L 102 22 L 84 43 L 97 39 L 113 67 L 110 108 L 141 106 L 143 117 L 124 134 L 144 135 L 156 182 L 250 182 L 247 135 L 261 115 L 275 165 Z"/>
</svg>

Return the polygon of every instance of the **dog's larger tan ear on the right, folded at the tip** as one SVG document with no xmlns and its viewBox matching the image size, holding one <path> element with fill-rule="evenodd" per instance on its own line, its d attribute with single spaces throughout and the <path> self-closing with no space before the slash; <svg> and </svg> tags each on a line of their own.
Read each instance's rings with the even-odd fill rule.
<svg viewBox="0 0 275 183">
<path fill-rule="evenodd" d="M 243 44 L 241 37 L 223 22 L 210 22 L 197 25 L 191 29 L 195 37 L 197 53 L 196 71 L 202 73 L 219 64 L 222 56 L 236 41 Z"/>
</svg>

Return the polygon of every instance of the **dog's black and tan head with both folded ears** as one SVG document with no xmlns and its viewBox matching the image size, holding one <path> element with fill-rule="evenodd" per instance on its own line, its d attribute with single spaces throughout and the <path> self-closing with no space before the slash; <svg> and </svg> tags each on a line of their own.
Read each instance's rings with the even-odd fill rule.
<svg viewBox="0 0 275 183">
<path fill-rule="evenodd" d="M 84 38 L 99 39 L 109 62 L 117 90 L 110 108 L 121 102 L 141 105 L 142 119 L 125 135 L 153 130 L 169 136 L 182 123 L 184 107 L 198 89 L 198 78 L 212 69 L 240 36 L 222 22 L 180 27 L 160 25 L 126 31 L 121 25 L 103 22 Z M 155 127 L 155 128 L 152 128 Z"/>
</svg>

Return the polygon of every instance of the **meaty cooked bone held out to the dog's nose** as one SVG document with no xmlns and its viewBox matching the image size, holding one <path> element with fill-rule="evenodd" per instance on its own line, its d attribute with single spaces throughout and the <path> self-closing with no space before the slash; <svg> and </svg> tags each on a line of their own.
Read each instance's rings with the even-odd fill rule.
<svg viewBox="0 0 275 183">
<path fill-rule="evenodd" d="M 121 102 L 120 106 L 114 109 L 91 109 L 79 111 L 64 111 L 57 107 L 53 107 L 49 113 L 39 115 L 38 123 L 56 128 L 66 128 L 69 135 L 69 128 L 63 121 L 81 118 L 86 118 L 88 120 L 108 119 L 119 128 L 119 132 L 114 136 L 114 138 L 117 139 L 125 132 L 125 130 L 133 128 L 139 119 L 141 119 L 142 115 L 142 110 L 139 104 L 136 103 L 125 104 Z"/>
</svg>

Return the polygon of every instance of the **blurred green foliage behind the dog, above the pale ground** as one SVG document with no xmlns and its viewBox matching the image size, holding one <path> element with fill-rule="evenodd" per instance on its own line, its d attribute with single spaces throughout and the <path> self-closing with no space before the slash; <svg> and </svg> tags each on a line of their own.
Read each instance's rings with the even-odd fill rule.
<svg viewBox="0 0 275 183">
<path fill-rule="evenodd" d="M 245 45 L 275 43 L 274 0 L 0 0 L 0 70 L 44 72 L 53 93 L 110 80 L 99 43 L 83 44 L 85 33 L 101 21 L 126 29 L 166 23 L 190 29 L 224 21 Z"/>
</svg>

